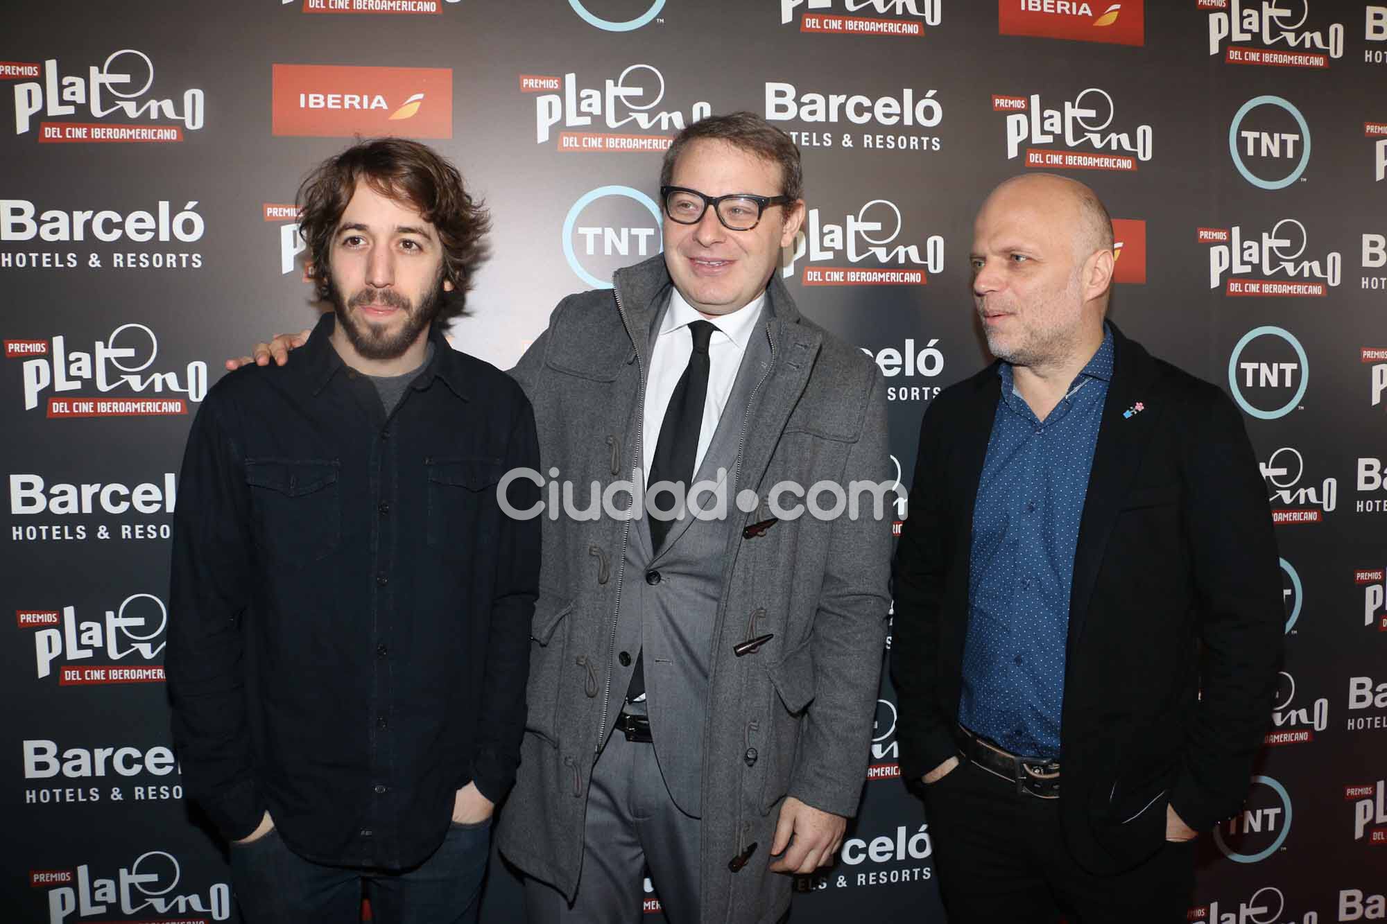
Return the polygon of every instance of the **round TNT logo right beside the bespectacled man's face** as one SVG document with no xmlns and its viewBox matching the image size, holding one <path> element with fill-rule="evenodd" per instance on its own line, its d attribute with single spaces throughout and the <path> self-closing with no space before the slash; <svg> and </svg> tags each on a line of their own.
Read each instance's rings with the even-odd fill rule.
<svg viewBox="0 0 1387 924">
<path fill-rule="evenodd" d="M 659 205 L 630 186 L 599 186 L 584 193 L 563 221 L 569 268 L 595 289 L 610 289 L 619 268 L 662 248 Z"/>
</svg>

